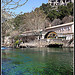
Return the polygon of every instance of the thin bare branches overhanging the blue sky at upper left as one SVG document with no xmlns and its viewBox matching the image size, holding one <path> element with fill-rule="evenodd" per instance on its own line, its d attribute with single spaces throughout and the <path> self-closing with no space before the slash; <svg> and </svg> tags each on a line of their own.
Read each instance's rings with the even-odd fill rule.
<svg viewBox="0 0 75 75">
<path fill-rule="evenodd" d="M 18 14 L 15 14 L 15 12 L 11 12 L 11 10 L 16 10 L 16 8 L 19 8 L 27 3 L 28 0 L 2 0 L 2 14 L 3 12 L 9 13 L 11 16 L 16 17 Z M 22 14 L 20 12 L 19 14 Z"/>
</svg>

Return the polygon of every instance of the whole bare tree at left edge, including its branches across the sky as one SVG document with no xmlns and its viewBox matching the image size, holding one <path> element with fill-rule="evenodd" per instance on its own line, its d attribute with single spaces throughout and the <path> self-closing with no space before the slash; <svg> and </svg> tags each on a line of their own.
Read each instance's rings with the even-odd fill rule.
<svg viewBox="0 0 75 75">
<path fill-rule="evenodd" d="M 14 1 L 14 0 L 2 0 L 1 3 L 2 3 L 2 8 L 1 8 L 1 11 L 2 11 L 2 15 L 1 15 L 1 18 L 2 18 L 2 39 L 4 40 L 4 37 L 7 35 L 7 32 L 10 32 L 12 31 L 13 29 L 13 20 L 12 19 L 12 16 L 16 16 L 15 13 L 11 12 L 12 9 L 16 9 L 18 7 L 21 7 L 23 6 L 25 3 L 27 3 L 28 0 L 25 0 L 22 4 L 21 4 L 21 1 L 22 0 L 18 0 L 18 1 Z"/>
</svg>

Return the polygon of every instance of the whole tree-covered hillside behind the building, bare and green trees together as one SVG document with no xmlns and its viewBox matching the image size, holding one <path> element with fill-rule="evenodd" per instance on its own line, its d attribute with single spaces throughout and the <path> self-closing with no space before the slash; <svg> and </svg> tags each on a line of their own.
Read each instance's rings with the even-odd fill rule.
<svg viewBox="0 0 75 75">
<path fill-rule="evenodd" d="M 3 34 L 11 34 L 14 31 L 25 32 L 27 30 L 45 29 L 73 21 L 73 4 L 67 6 L 51 7 L 49 4 L 42 4 L 30 13 L 24 13 L 6 21 L 2 25 Z M 11 27 L 12 26 L 12 27 Z"/>
</svg>

